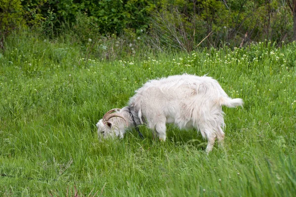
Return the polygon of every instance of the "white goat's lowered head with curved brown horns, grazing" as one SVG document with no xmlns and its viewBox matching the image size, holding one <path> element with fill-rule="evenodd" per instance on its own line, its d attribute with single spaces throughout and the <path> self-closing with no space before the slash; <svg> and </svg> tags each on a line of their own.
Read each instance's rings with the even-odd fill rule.
<svg viewBox="0 0 296 197">
<path fill-rule="evenodd" d="M 119 111 L 120 109 L 111 109 L 99 120 L 97 123 L 99 138 L 123 137 L 125 127 L 128 126 L 128 123 Z"/>
</svg>

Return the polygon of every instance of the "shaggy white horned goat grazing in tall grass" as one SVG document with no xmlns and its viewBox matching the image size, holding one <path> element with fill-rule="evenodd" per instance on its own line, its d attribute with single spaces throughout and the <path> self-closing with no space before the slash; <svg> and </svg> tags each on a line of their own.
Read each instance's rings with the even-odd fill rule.
<svg viewBox="0 0 296 197">
<path fill-rule="evenodd" d="M 163 141 L 166 123 L 175 123 L 180 129 L 195 128 L 208 140 L 209 153 L 216 137 L 220 142 L 224 138 L 222 105 L 242 106 L 243 100 L 229 98 L 211 77 L 183 74 L 150 80 L 136 91 L 128 106 L 104 115 L 97 123 L 98 136 L 123 137 L 126 129 L 134 127 L 133 116 L 137 126 L 146 124 L 153 136 L 156 133 Z"/>
</svg>

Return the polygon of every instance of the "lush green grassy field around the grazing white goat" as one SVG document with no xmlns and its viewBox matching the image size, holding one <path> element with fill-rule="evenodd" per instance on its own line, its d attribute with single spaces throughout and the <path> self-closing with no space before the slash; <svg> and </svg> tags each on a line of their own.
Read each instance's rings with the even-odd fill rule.
<svg viewBox="0 0 296 197">
<path fill-rule="evenodd" d="M 144 51 L 144 50 L 143 50 Z M 85 61 L 67 40 L 11 36 L 0 54 L 0 196 L 295 196 L 296 43 L 141 53 Z M 223 108 L 224 147 L 168 126 L 97 139 L 95 124 L 148 79 L 212 76 L 244 108 Z M 67 195 L 68 191 L 68 195 Z"/>
</svg>

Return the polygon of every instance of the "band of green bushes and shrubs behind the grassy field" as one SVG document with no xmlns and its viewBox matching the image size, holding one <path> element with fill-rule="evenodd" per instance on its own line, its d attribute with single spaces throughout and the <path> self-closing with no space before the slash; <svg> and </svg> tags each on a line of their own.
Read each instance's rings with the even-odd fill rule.
<svg viewBox="0 0 296 197">
<path fill-rule="evenodd" d="M 52 38 L 71 30 L 92 39 L 145 33 L 149 46 L 187 52 L 197 46 L 238 47 L 245 35 L 243 44 L 293 40 L 293 17 L 285 0 L 0 0 L 0 4 L 2 32 L 7 26 L 26 24 L 41 27 Z"/>
</svg>

